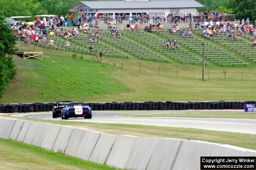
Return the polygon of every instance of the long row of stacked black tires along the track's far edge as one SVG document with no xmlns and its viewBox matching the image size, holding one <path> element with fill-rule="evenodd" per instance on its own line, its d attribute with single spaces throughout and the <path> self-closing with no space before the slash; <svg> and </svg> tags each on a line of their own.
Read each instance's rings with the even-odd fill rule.
<svg viewBox="0 0 256 170">
<path fill-rule="evenodd" d="M 256 101 L 209 102 L 111 102 L 86 103 L 92 110 L 242 110 L 245 104 Z M 52 111 L 54 103 L 0 104 L 0 113 L 27 113 Z"/>
</svg>

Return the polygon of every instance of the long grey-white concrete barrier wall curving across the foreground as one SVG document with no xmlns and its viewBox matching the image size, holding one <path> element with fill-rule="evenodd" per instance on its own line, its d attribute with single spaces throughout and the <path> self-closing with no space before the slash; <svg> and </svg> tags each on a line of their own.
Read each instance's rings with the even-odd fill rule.
<svg viewBox="0 0 256 170">
<path fill-rule="evenodd" d="M 0 137 L 117 168 L 198 170 L 200 156 L 256 156 L 255 150 L 169 138 L 111 135 L 79 128 L 0 118 Z"/>
</svg>

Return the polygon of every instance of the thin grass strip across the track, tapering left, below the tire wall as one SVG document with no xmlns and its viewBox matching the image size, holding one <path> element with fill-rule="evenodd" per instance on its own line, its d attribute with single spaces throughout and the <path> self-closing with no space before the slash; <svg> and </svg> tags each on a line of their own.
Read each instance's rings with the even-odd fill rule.
<svg viewBox="0 0 256 170">
<path fill-rule="evenodd" d="M 256 114 L 254 113 L 141 113 L 119 114 L 117 116 L 256 119 Z"/>
</svg>

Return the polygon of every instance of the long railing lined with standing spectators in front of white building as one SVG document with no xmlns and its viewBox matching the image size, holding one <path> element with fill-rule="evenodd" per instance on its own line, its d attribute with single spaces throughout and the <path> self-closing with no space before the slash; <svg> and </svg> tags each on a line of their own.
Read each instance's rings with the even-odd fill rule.
<svg viewBox="0 0 256 170">
<path fill-rule="evenodd" d="M 127 23 L 202 23 L 202 22 L 217 22 L 218 20 L 221 22 L 234 22 L 236 20 L 235 14 L 228 14 L 228 15 L 198 15 L 198 16 L 117 16 L 117 17 L 104 17 L 101 16 L 97 21 L 98 24 L 108 24 L 108 22 L 113 22 L 116 24 L 127 24 Z M 85 23 L 87 20 L 84 19 L 83 23 Z M 88 21 L 87 21 L 88 22 Z M 95 23 L 95 19 L 90 20 L 90 23 Z"/>
</svg>

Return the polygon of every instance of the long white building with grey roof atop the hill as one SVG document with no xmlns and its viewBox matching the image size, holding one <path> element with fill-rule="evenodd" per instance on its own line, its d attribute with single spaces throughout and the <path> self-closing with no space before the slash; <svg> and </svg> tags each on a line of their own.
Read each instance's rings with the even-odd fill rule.
<svg viewBox="0 0 256 170">
<path fill-rule="evenodd" d="M 95 12 L 98 12 L 101 16 L 112 14 L 114 17 L 118 14 L 122 16 L 125 14 L 129 16 L 132 14 L 140 16 L 144 13 L 150 17 L 166 15 L 179 12 L 195 14 L 197 8 L 204 8 L 203 5 L 194 0 L 171 0 L 171 1 L 149 1 L 149 0 L 123 0 L 123 1 L 81 1 L 77 5 L 73 6 L 69 11 L 78 12 L 80 16 Z"/>
</svg>

